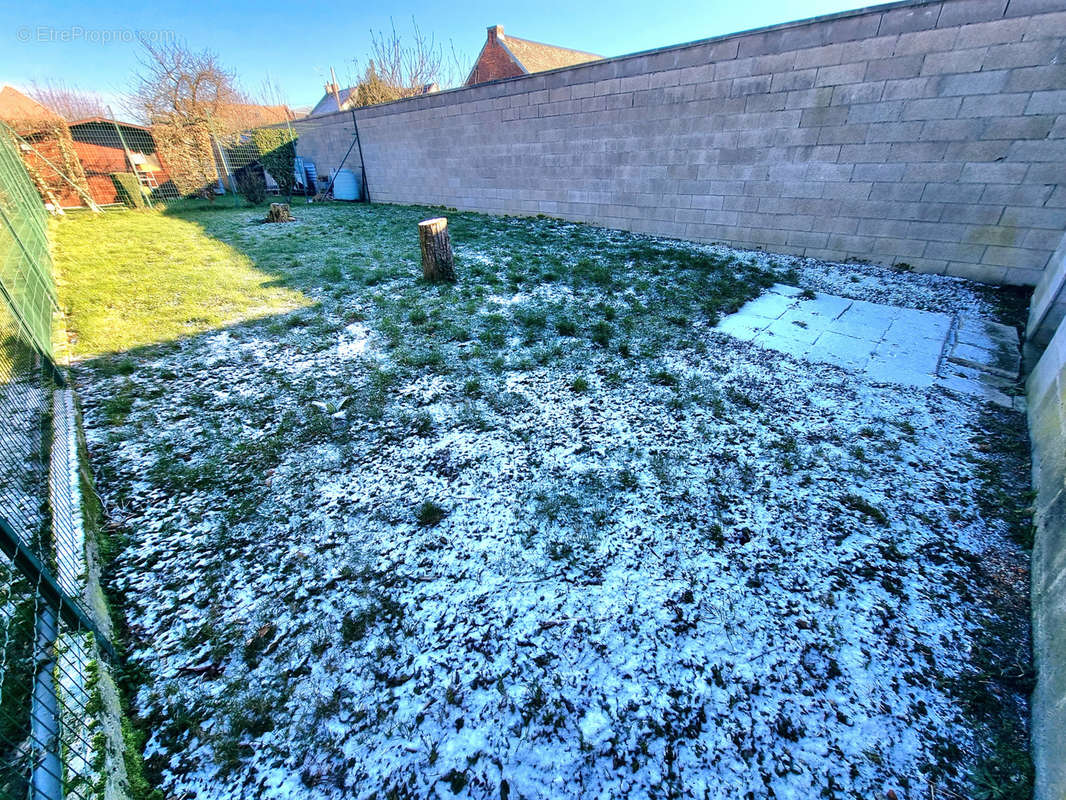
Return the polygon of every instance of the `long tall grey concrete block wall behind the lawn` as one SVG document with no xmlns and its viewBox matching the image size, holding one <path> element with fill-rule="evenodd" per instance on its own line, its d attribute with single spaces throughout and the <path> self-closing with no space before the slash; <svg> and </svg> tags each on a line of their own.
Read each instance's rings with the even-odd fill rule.
<svg viewBox="0 0 1066 800">
<path fill-rule="evenodd" d="M 1066 0 L 894 3 L 356 115 L 375 202 L 1035 285 L 1066 229 Z"/>
</svg>

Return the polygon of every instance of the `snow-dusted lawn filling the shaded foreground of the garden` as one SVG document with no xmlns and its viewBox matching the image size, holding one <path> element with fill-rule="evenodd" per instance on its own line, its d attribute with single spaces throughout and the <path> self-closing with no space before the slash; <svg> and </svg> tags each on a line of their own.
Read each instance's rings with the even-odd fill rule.
<svg viewBox="0 0 1066 800">
<path fill-rule="evenodd" d="M 655 244 L 570 227 L 594 261 Z M 655 281 L 468 291 L 512 251 L 456 246 L 451 294 L 401 270 L 78 370 L 167 795 L 967 794 L 987 630 L 1028 635 L 1017 519 L 983 501 L 1025 484 L 1022 416 L 739 341 Z M 962 281 L 684 250 L 999 314 Z"/>
</svg>

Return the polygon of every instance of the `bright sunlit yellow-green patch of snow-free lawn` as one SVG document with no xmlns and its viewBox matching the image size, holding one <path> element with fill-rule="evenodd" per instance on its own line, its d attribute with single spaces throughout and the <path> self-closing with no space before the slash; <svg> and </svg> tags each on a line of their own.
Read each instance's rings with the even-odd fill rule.
<svg viewBox="0 0 1066 800">
<path fill-rule="evenodd" d="M 191 219 L 111 211 L 70 214 L 52 225 L 76 357 L 173 341 L 311 302 L 257 269 L 257 254 L 220 241 Z"/>
</svg>

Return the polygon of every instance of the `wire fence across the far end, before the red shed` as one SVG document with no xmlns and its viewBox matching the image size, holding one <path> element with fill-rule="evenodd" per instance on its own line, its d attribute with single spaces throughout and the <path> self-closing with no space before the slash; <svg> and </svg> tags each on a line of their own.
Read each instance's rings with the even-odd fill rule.
<svg viewBox="0 0 1066 800">
<path fill-rule="evenodd" d="M 154 208 L 189 197 L 233 205 L 292 195 L 368 198 L 349 112 L 224 127 L 48 117 L 13 123 L 7 134 L 33 194 L 53 213 Z"/>
</svg>

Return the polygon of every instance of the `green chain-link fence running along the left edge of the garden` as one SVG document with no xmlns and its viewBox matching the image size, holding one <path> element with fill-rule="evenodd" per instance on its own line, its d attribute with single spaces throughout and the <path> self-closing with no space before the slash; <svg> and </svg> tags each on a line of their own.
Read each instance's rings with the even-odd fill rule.
<svg viewBox="0 0 1066 800">
<path fill-rule="evenodd" d="M 125 774 L 114 651 L 90 577 L 74 396 L 50 355 L 45 211 L 20 146 L 0 127 L 0 798 L 87 799 Z"/>
</svg>

